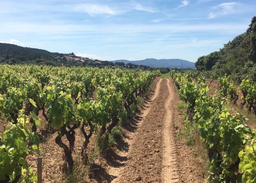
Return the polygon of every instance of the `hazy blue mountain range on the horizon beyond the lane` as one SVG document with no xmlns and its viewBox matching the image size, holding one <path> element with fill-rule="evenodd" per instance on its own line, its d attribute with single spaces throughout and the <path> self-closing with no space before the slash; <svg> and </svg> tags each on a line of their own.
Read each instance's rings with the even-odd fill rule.
<svg viewBox="0 0 256 183">
<path fill-rule="evenodd" d="M 136 61 L 130 61 L 130 60 L 113 60 L 111 62 L 124 62 L 127 63 L 133 63 L 137 65 L 147 65 L 150 67 L 168 67 L 168 68 L 195 68 L 195 63 L 190 62 L 187 60 L 182 59 L 155 59 L 155 58 L 147 58 L 144 60 L 136 60 Z"/>
</svg>

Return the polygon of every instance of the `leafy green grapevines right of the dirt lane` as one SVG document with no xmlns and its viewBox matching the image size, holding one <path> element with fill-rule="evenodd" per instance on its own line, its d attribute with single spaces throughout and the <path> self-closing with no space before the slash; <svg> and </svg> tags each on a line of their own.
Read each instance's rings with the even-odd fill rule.
<svg viewBox="0 0 256 183">
<path fill-rule="evenodd" d="M 188 120 L 198 126 L 201 140 L 207 148 L 210 161 L 208 181 L 255 182 L 255 131 L 245 125 L 246 118 L 241 113 L 230 114 L 228 99 L 234 103 L 238 99 L 230 77 L 219 78 L 219 92 L 210 96 L 202 76 L 175 71 L 170 75 L 181 99 L 187 104 Z M 244 101 L 241 107 L 246 104 L 249 111 L 255 112 L 255 83 L 250 79 L 243 80 L 240 89 Z"/>
</svg>

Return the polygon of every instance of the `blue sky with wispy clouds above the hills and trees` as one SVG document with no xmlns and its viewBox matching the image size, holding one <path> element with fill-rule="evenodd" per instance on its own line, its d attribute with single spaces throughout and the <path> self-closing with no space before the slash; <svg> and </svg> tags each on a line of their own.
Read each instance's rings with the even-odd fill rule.
<svg viewBox="0 0 256 183">
<path fill-rule="evenodd" d="M 0 42 L 100 60 L 195 62 L 253 16 L 256 0 L 0 0 Z"/>
</svg>

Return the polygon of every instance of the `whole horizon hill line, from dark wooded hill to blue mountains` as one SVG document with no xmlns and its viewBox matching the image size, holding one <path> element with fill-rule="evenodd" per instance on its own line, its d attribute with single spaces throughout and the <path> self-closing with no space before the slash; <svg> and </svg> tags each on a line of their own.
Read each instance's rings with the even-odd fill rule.
<svg viewBox="0 0 256 183">
<path fill-rule="evenodd" d="M 155 59 L 147 58 L 145 60 L 114 60 L 102 61 L 97 59 L 83 58 L 75 56 L 74 53 L 63 54 L 53 53 L 42 49 L 22 47 L 15 44 L 0 43 L 0 63 L 8 64 L 37 64 L 53 66 L 96 66 L 104 67 L 107 65 L 114 66 L 115 62 L 124 64 L 132 63 L 136 65 L 146 65 L 150 67 L 168 67 L 168 68 L 195 68 L 193 62 L 181 59 Z M 120 65 L 120 64 L 117 64 Z M 125 67 L 124 65 L 120 65 Z"/>
</svg>

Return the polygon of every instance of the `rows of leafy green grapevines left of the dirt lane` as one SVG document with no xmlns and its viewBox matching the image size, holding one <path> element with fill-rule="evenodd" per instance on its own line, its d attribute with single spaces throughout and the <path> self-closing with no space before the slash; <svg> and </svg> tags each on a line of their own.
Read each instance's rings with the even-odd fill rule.
<svg viewBox="0 0 256 183">
<path fill-rule="evenodd" d="M 92 135 L 97 133 L 107 147 L 122 113 L 130 114 L 134 110 L 159 74 L 7 65 L 2 65 L 0 70 L 0 113 L 9 122 L 0 139 L 0 182 L 13 183 L 37 179 L 26 157 L 40 154 L 39 143 L 47 135 L 41 128 L 40 111 L 47 121 L 48 132 L 58 134 L 55 142 L 63 151 L 62 169 L 71 174 L 75 129 L 81 129 L 83 134 L 80 155 L 87 162 L 87 145 Z M 64 138 L 68 143 L 63 142 Z"/>
</svg>

